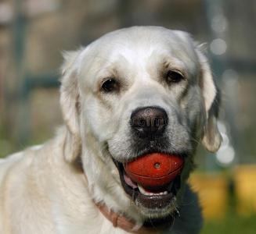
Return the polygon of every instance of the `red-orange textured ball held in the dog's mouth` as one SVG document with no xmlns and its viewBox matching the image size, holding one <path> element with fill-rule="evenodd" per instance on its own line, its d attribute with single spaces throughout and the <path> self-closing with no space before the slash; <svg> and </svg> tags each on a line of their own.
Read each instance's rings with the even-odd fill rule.
<svg viewBox="0 0 256 234">
<path fill-rule="evenodd" d="M 184 159 L 170 154 L 146 154 L 124 164 L 125 172 L 147 190 L 168 186 L 182 171 Z"/>
</svg>

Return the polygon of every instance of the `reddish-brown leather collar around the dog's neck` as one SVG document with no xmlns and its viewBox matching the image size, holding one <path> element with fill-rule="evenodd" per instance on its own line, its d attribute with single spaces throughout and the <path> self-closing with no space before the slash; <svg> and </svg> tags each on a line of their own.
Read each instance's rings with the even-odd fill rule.
<svg viewBox="0 0 256 234">
<path fill-rule="evenodd" d="M 88 184 L 88 179 L 86 175 L 85 180 Z M 162 229 L 168 229 L 173 224 L 175 218 L 171 217 L 164 222 L 159 223 L 149 222 L 149 224 L 144 224 L 139 229 L 137 229 L 135 222 L 132 222 L 131 219 L 128 219 L 124 215 L 111 211 L 103 202 L 96 202 L 96 200 L 94 199 L 93 202 L 96 204 L 96 207 L 98 207 L 99 211 L 105 216 L 105 218 L 112 222 L 115 228 L 123 229 L 126 232 L 135 234 L 153 234 L 154 232 L 159 232 Z M 178 211 L 176 211 L 175 216 L 179 216 Z"/>
</svg>

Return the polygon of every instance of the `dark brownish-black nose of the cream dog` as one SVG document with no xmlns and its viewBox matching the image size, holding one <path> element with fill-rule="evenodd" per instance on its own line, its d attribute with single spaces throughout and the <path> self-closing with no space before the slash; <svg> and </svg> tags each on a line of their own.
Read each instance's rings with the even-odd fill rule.
<svg viewBox="0 0 256 234">
<path fill-rule="evenodd" d="M 168 115 L 163 108 L 139 108 L 131 115 L 132 129 L 141 138 L 160 136 L 167 124 Z"/>
</svg>

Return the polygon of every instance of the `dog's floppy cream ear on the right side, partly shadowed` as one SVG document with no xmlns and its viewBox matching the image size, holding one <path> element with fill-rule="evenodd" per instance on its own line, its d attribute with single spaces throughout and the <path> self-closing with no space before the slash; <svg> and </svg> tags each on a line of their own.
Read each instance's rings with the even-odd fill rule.
<svg viewBox="0 0 256 234">
<path fill-rule="evenodd" d="M 218 90 L 211 75 L 211 69 L 206 56 L 199 50 L 197 50 L 197 56 L 200 62 L 199 86 L 204 97 L 206 112 L 202 142 L 207 151 L 215 153 L 222 144 L 222 136 L 217 126 L 218 109 L 221 101 L 220 90 Z"/>
</svg>

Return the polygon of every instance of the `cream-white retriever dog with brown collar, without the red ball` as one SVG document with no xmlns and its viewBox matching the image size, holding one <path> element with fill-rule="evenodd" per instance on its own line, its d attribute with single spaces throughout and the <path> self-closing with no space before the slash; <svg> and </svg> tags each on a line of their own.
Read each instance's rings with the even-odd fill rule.
<svg viewBox="0 0 256 234">
<path fill-rule="evenodd" d="M 200 205 L 186 180 L 198 142 L 215 152 L 222 138 L 218 88 L 197 43 L 178 30 L 131 27 L 64 57 L 65 126 L 0 161 L 0 233 L 198 233 Z M 161 191 L 124 172 L 154 153 L 184 161 Z"/>
</svg>

